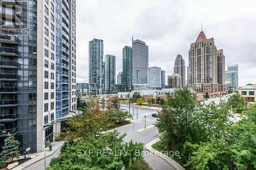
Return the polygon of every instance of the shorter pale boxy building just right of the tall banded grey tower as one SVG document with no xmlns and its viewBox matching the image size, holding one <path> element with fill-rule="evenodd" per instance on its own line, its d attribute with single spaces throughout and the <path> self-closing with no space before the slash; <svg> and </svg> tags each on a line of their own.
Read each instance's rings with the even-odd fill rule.
<svg viewBox="0 0 256 170">
<path fill-rule="evenodd" d="M 149 67 L 148 68 L 148 84 L 150 88 L 161 88 L 162 87 L 162 75 L 160 67 Z"/>
</svg>

